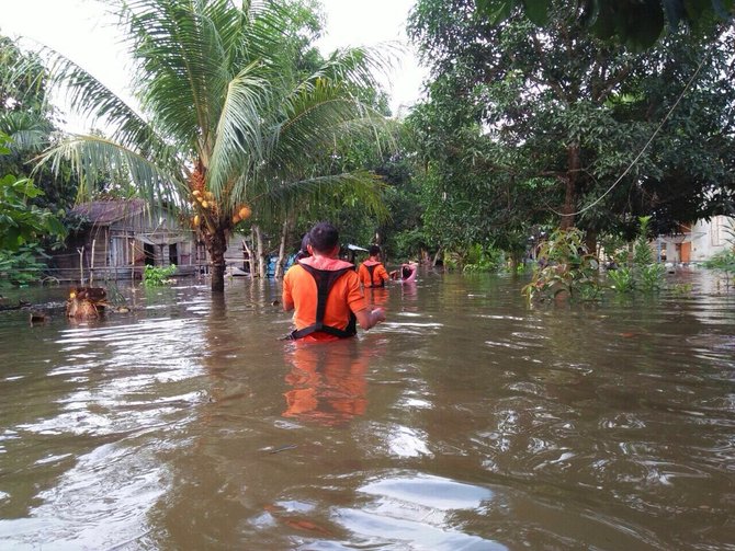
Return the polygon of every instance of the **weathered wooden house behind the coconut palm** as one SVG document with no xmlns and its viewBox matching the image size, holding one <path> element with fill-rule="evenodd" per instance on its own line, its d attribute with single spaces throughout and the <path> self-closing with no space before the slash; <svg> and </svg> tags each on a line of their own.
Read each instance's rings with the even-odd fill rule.
<svg viewBox="0 0 735 551">
<path fill-rule="evenodd" d="M 166 207 L 111 199 L 78 205 L 72 213 L 87 223 L 53 255 L 53 275 L 60 280 L 139 279 L 146 265 L 176 264 L 177 275 L 205 269 L 204 243 Z"/>
</svg>

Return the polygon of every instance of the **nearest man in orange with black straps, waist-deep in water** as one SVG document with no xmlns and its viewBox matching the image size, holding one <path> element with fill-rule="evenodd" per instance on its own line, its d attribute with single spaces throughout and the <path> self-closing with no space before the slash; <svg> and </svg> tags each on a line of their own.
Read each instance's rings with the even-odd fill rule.
<svg viewBox="0 0 735 551">
<path fill-rule="evenodd" d="M 308 252 L 283 278 L 283 309 L 295 309 L 291 337 L 335 341 L 385 321 L 383 308 L 369 309 L 354 266 L 338 259 L 339 232 L 319 222 L 308 233 Z M 355 323 L 357 322 L 357 323 Z"/>
</svg>

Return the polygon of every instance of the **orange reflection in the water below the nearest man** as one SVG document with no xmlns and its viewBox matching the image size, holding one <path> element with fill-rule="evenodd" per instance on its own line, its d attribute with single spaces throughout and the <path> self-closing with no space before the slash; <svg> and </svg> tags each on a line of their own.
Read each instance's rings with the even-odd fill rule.
<svg viewBox="0 0 735 551">
<path fill-rule="evenodd" d="M 340 425 L 365 413 L 368 360 L 358 343 L 296 343 L 287 354 L 293 369 L 285 380 L 293 388 L 284 393 L 284 417 Z"/>
</svg>

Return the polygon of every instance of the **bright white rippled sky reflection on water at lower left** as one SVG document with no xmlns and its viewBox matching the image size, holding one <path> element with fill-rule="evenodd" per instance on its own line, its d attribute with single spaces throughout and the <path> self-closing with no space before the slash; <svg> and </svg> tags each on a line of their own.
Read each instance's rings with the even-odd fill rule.
<svg viewBox="0 0 735 551">
<path fill-rule="evenodd" d="M 172 292 L 168 313 L 177 315 Z M 190 384 L 201 375 L 194 320 L 147 315 L 58 317 L 35 346 L 16 333 L 19 353 L 42 364 L 15 364 L 21 402 L 11 404 L 3 389 L 4 403 L 15 405 L 2 416 L 12 435 L 0 469 L 12 473 L 0 477 L 5 543 L 101 549 L 148 530 L 150 502 L 167 487 L 158 435 L 191 422 L 203 395 Z"/>
</svg>

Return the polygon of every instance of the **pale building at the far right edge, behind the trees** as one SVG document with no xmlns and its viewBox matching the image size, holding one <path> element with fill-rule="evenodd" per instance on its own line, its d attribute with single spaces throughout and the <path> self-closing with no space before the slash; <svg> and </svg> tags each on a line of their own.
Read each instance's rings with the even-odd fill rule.
<svg viewBox="0 0 735 551">
<path fill-rule="evenodd" d="M 658 259 L 675 264 L 698 263 L 735 245 L 735 218 L 715 216 L 682 226 L 681 232 L 659 236 L 654 242 Z"/>
</svg>

